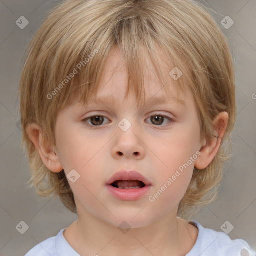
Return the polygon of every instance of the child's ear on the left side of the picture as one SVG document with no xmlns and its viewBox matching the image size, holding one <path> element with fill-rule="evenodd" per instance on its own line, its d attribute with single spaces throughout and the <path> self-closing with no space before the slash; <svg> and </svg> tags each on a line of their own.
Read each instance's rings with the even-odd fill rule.
<svg viewBox="0 0 256 256">
<path fill-rule="evenodd" d="M 45 166 L 53 172 L 60 172 L 63 166 L 53 146 L 45 140 L 41 127 L 36 123 L 29 123 L 26 127 L 26 133 L 39 152 Z"/>
</svg>

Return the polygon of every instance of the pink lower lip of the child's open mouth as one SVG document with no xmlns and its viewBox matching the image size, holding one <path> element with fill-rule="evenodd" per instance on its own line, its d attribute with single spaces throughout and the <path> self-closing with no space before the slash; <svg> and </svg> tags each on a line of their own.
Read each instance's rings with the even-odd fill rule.
<svg viewBox="0 0 256 256">
<path fill-rule="evenodd" d="M 118 199 L 126 200 L 126 201 L 134 201 L 139 199 L 144 194 L 146 194 L 149 191 L 150 186 L 147 185 L 142 188 L 122 189 L 122 188 L 113 187 L 111 185 L 107 185 L 107 189 L 114 197 Z"/>
</svg>

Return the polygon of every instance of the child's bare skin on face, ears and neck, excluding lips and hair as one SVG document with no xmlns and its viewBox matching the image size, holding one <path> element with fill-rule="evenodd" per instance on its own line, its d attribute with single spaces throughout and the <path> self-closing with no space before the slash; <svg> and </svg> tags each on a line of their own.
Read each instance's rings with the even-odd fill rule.
<svg viewBox="0 0 256 256">
<path fill-rule="evenodd" d="M 150 61 L 147 59 L 145 63 L 148 70 L 145 74 L 146 98 L 166 96 L 151 71 Z M 168 88 L 176 95 L 177 84 L 168 74 L 169 67 L 162 64 L 162 70 Z M 97 94 L 97 100 L 112 97 L 111 104 L 100 100 L 96 104 L 91 99 L 87 108 L 74 101 L 62 109 L 56 119 L 56 146 L 45 141 L 39 125 L 29 124 L 26 131 L 51 171 L 64 169 L 67 175 L 75 169 L 80 174 L 76 182 L 68 180 L 78 219 L 63 233 L 77 253 L 185 255 L 194 246 L 198 229 L 177 217 L 178 204 L 186 192 L 194 166 L 205 168 L 216 155 L 228 114 L 221 112 L 214 120 L 219 138 L 200 142 L 199 118 L 190 91 L 180 95 L 185 106 L 171 98 L 167 103 L 138 106 L 134 95 L 124 97 L 126 85 L 125 65 L 118 48 L 114 48 Z M 150 121 L 150 116 L 157 114 L 166 115 L 173 121 L 167 118 L 162 124 Z M 83 120 L 90 115 L 104 116 L 102 124 L 93 126 L 97 120 Z M 132 124 L 125 132 L 118 127 L 122 118 Z M 148 197 L 199 151 L 200 156 L 154 202 L 150 202 Z M 135 201 L 112 197 L 105 183 L 122 169 L 137 170 L 149 179 L 152 184 L 149 192 Z M 125 234 L 118 229 L 122 221 L 131 227 Z"/>
</svg>

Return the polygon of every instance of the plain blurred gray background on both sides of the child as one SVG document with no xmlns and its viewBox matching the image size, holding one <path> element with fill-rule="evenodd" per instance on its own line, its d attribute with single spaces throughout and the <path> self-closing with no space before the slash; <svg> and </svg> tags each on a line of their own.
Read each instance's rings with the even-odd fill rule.
<svg viewBox="0 0 256 256">
<path fill-rule="evenodd" d="M 0 255 L 22 256 L 38 242 L 55 236 L 76 215 L 59 199 L 41 198 L 26 188 L 30 177 L 25 150 L 20 151 L 18 128 L 18 81 L 24 51 L 40 22 L 58 1 L 0 0 Z M 219 199 L 194 216 L 204 227 L 221 231 L 228 220 L 231 239 L 244 239 L 256 249 L 256 1 L 208 0 L 204 5 L 228 37 L 235 59 L 238 114 L 232 135 L 233 155 L 224 165 Z M 20 29 L 15 21 L 25 16 L 29 24 Z M 220 21 L 228 15 L 234 24 L 225 29 Z M 21 221 L 29 229 L 20 234 Z M 36 256 L 36 255 L 35 255 Z"/>
</svg>

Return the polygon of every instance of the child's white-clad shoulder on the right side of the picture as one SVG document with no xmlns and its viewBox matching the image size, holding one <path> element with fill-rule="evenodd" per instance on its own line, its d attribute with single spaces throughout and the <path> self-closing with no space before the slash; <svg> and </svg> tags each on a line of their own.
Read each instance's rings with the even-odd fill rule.
<svg viewBox="0 0 256 256">
<path fill-rule="evenodd" d="M 198 236 L 196 243 L 187 256 L 201 253 L 201 256 L 254 256 L 256 255 L 249 244 L 242 239 L 234 239 L 224 232 L 205 228 L 197 221 L 190 221 L 190 224 L 197 226 Z"/>
</svg>

